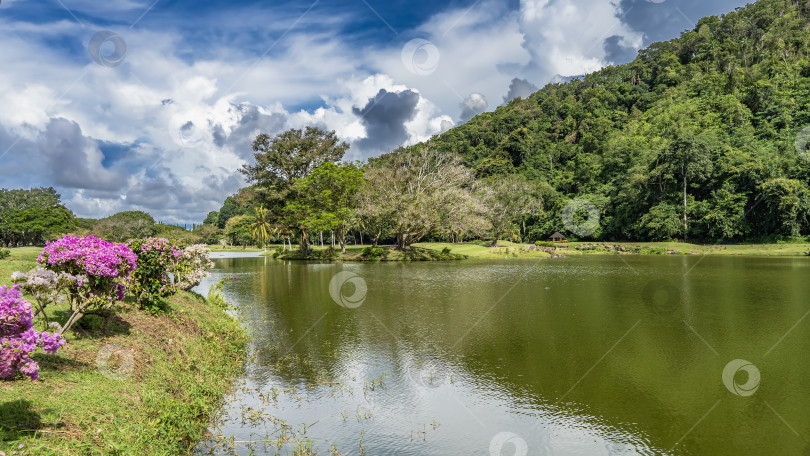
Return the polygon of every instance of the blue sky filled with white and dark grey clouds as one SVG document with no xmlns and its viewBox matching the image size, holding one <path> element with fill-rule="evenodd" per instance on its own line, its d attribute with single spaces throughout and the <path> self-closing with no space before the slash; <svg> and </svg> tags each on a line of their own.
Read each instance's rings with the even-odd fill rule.
<svg viewBox="0 0 810 456">
<path fill-rule="evenodd" d="M 2 0 L 0 187 L 199 223 L 259 132 L 335 130 L 362 160 L 744 3 Z"/>
</svg>

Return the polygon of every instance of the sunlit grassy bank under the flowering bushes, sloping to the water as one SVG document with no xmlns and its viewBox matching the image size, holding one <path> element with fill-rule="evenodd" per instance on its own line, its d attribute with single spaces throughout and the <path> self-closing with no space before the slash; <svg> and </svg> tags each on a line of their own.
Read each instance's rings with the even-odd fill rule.
<svg viewBox="0 0 810 456">
<path fill-rule="evenodd" d="M 0 284 L 32 267 L 39 250 L 13 249 L 0 260 Z M 35 356 L 39 380 L 0 381 L 0 450 L 187 453 L 242 372 L 247 336 L 197 294 L 170 303 L 173 312 L 161 317 L 127 303 L 106 318 L 86 316 L 57 355 Z"/>
</svg>

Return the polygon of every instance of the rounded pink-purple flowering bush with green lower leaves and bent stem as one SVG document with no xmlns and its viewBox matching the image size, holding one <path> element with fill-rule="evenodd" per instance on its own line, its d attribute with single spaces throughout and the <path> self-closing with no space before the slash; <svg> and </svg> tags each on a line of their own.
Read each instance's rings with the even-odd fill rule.
<svg viewBox="0 0 810 456">
<path fill-rule="evenodd" d="M 128 246 L 95 236 L 65 236 L 46 244 L 37 262 L 51 271 L 78 278 L 67 287 L 73 315 L 64 331 L 88 310 L 109 309 L 123 300 L 136 261 Z"/>
</svg>

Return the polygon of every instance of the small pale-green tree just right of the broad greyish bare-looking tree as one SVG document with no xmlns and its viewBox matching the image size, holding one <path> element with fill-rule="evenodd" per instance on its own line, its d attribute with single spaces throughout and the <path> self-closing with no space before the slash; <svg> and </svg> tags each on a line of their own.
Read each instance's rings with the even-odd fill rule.
<svg viewBox="0 0 810 456">
<path fill-rule="evenodd" d="M 523 215 L 538 209 L 529 181 L 520 174 L 499 176 L 481 181 L 477 196 L 485 207 L 484 217 L 491 225 L 492 245 Z"/>
</svg>

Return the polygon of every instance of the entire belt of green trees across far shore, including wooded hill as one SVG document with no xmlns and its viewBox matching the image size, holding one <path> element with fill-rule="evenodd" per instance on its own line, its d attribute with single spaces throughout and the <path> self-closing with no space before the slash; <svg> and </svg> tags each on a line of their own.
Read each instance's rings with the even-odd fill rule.
<svg viewBox="0 0 810 456">
<path fill-rule="evenodd" d="M 191 230 L 137 212 L 76 219 L 53 189 L 3 190 L 0 242 L 71 230 L 296 240 L 304 250 L 324 236 L 403 249 L 558 231 L 610 241 L 805 236 L 809 53 L 810 3 L 761 0 L 368 163 L 342 162 L 349 145 L 333 132 L 260 135 L 241 170 L 250 186 Z"/>
</svg>

